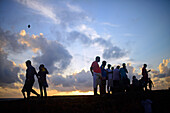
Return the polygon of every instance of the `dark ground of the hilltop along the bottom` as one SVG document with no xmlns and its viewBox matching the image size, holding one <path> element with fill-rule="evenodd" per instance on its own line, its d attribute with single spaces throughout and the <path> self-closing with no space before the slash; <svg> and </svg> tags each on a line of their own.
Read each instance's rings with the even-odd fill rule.
<svg viewBox="0 0 170 113">
<path fill-rule="evenodd" d="M 0 101 L 3 113 L 144 113 L 141 100 L 146 94 L 118 93 L 100 96 L 52 96 L 46 99 Z M 147 93 L 153 113 L 170 113 L 170 91 Z"/>
</svg>

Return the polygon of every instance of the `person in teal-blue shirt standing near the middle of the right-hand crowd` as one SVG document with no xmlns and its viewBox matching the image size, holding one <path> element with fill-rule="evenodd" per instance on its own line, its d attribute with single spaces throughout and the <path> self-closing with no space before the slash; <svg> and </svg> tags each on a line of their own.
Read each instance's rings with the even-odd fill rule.
<svg viewBox="0 0 170 113">
<path fill-rule="evenodd" d="M 120 68 L 120 78 L 121 78 L 122 89 L 124 91 L 127 88 L 129 80 L 128 80 L 128 77 L 127 77 L 127 74 L 126 74 L 126 73 L 128 73 L 128 70 L 126 69 L 126 64 L 123 63 L 122 66 L 123 67 Z"/>
</svg>

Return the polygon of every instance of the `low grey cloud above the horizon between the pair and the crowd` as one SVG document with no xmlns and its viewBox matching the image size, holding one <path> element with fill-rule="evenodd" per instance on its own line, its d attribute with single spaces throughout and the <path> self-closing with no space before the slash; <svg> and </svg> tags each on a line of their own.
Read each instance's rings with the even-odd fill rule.
<svg viewBox="0 0 170 113">
<path fill-rule="evenodd" d="M 92 89 L 92 76 L 90 71 L 82 70 L 66 77 L 55 75 L 50 78 L 53 89 L 58 91 L 89 91 Z"/>
</svg>

